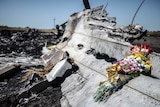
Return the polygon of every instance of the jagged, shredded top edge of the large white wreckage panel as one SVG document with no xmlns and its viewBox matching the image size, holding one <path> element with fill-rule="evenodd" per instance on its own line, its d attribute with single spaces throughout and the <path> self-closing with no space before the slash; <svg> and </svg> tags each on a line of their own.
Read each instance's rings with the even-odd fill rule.
<svg viewBox="0 0 160 107">
<path fill-rule="evenodd" d="M 116 18 L 108 17 L 107 11 L 102 11 L 102 8 L 99 8 L 99 13 L 94 9 L 91 10 L 91 14 L 88 13 L 89 15 L 86 15 L 85 17 L 87 18 L 86 23 L 88 23 L 88 26 L 86 26 L 91 27 L 93 30 L 104 30 L 106 33 L 115 36 L 114 38 L 120 36 L 121 39 L 124 39 L 125 41 L 139 38 L 145 33 L 145 30 L 141 25 L 116 26 Z"/>
</svg>

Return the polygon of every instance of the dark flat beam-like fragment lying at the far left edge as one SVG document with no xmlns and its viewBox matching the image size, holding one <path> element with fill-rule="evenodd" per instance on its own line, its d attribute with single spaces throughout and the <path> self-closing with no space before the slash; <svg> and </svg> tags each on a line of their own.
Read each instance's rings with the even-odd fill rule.
<svg viewBox="0 0 160 107">
<path fill-rule="evenodd" d="M 0 80 L 11 77 L 16 71 L 20 69 L 20 65 L 10 65 L 0 70 Z"/>
</svg>

